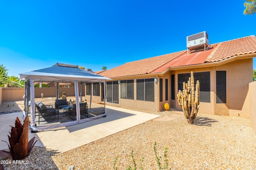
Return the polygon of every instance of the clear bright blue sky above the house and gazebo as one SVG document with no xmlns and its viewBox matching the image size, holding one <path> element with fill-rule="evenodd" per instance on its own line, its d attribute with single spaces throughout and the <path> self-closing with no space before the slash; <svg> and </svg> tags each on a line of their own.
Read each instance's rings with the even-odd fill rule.
<svg viewBox="0 0 256 170">
<path fill-rule="evenodd" d="M 256 35 L 244 1 L 2 0 L 0 64 L 18 77 L 56 63 L 109 70 L 186 50 L 202 31 L 212 44 Z"/>
</svg>

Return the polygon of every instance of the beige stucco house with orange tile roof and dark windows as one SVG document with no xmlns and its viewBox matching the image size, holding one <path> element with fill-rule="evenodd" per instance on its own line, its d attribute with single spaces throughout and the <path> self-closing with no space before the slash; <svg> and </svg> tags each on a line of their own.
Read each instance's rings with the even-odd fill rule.
<svg viewBox="0 0 256 170">
<path fill-rule="evenodd" d="M 184 50 L 97 72 L 111 78 L 106 82 L 106 102 L 151 111 L 164 104 L 181 110 L 177 92 L 190 72 L 200 80 L 199 113 L 248 118 L 249 83 L 253 81 L 254 35 L 216 43 L 202 50 Z M 92 88 L 92 89 L 91 89 Z M 101 84 L 86 84 L 86 96 L 103 101 Z"/>
</svg>

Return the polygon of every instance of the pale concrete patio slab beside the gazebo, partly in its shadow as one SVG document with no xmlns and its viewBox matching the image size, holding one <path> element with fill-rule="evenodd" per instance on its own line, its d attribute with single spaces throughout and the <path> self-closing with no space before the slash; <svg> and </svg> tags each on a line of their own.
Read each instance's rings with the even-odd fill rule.
<svg viewBox="0 0 256 170">
<path fill-rule="evenodd" d="M 106 115 L 106 117 L 78 125 L 49 129 L 38 133 L 29 131 L 29 139 L 38 135 L 40 140 L 36 146 L 65 152 L 159 117 L 159 115 L 112 106 L 106 106 Z M 8 141 L 9 125 L 14 125 L 17 116 L 23 120 L 22 112 L 0 115 L 0 140 Z M 7 148 L 8 145 L 0 141 L 0 150 Z"/>
</svg>

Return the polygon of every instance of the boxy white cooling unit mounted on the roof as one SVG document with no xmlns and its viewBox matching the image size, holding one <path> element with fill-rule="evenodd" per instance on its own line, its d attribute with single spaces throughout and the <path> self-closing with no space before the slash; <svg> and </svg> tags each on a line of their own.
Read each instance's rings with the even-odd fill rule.
<svg viewBox="0 0 256 170">
<path fill-rule="evenodd" d="M 208 34 L 206 33 L 206 31 L 187 37 L 187 48 L 190 51 L 199 49 L 205 50 L 208 45 Z"/>
</svg>

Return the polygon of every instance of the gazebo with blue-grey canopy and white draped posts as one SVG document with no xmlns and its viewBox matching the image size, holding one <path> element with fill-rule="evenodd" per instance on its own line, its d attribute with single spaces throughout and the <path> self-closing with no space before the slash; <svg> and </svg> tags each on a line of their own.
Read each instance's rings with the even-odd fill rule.
<svg viewBox="0 0 256 170">
<path fill-rule="evenodd" d="M 103 117 L 106 113 L 102 113 L 96 117 L 90 117 L 86 119 L 80 119 L 80 106 L 76 105 L 76 121 L 70 121 L 65 123 L 59 123 L 54 125 L 43 125 L 36 126 L 35 120 L 35 107 L 34 107 L 34 82 L 56 82 L 56 99 L 58 99 L 58 83 L 59 82 L 74 82 L 75 88 L 75 97 L 76 101 L 79 101 L 79 93 L 78 93 L 78 84 L 82 84 L 85 82 L 100 82 L 104 83 L 104 87 L 106 86 L 106 80 L 111 80 L 110 78 L 106 78 L 104 76 L 100 76 L 98 74 L 94 74 L 85 70 L 78 68 L 78 65 L 71 64 L 61 64 L 56 63 L 52 67 L 43 68 L 40 70 L 34 70 L 31 72 L 25 72 L 20 74 L 20 79 L 25 80 L 25 113 L 24 117 L 28 115 L 28 106 L 31 106 L 31 125 L 30 128 L 32 131 L 44 130 L 44 129 L 52 129 L 56 127 L 63 127 L 69 125 L 75 125 L 78 123 L 83 123 L 86 121 L 90 121 L 96 119 L 98 117 Z M 106 96 L 105 88 L 104 88 L 104 96 Z M 81 96 L 82 97 L 82 96 Z M 105 109 L 105 98 L 104 98 L 104 109 Z M 105 110 L 104 110 L 105 111 Z"/>
</svg>

